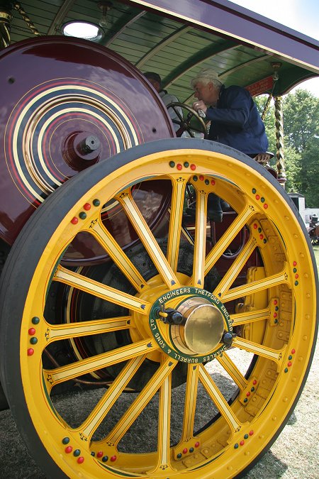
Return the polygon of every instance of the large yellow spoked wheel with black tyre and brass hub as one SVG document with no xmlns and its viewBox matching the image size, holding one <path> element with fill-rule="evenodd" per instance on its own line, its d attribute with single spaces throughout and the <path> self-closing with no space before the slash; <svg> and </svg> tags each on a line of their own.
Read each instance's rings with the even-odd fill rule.
<svg viewBox="0 0 319 479">
<path fill-rule="evenodd" d="M 156 179 L 167 181 L 172 202 L 151 231 L 131 190 Z M 189 223 L 187 185 L 196 192 Z M 210 193 L 231 207 L 216 241 L 208 241 Z M 114 199 L 139 250 L 121 248 L 121 227 L 101 222 Z M 84 232 L 108 253 L 99 268 L 116 269 L 117 283 L 63 263 Z M 57 189 L 21 231 L 1 286 L 1 382 L 40 466 L 50 477 L 164 479 L 233 478 L 250 468 L 284 427 L 310 367 L 309 245 L 276 180 L 209 141 L 140 145 Z M 61 284 L 66 299 L 52 311 Z M 57 345 L 77 354 L 52 361 Z M 110 373 L 107 387 L 67 387 L 101 371 Z"/>
</svg>

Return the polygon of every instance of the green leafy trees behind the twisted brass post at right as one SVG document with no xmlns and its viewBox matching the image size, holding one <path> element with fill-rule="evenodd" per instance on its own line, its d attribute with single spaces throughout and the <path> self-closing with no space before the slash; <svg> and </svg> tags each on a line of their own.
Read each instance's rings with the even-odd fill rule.
<svg viewBox="0 0 319 479">
<path fill-rule="evenodd" d="M 267 96 L 254 99 L 260 114 Z M 276 154 L 274 102 L 269 106 L 264 125 L 269 151 Z M 306 197 L 307 207 L 319 206 L 319 99 L 304 89 L 297 89 L 283 98 L 284 155 L 286 191 Z M 276 156 L 272 159 L 276 165 Z"/>
</svg>

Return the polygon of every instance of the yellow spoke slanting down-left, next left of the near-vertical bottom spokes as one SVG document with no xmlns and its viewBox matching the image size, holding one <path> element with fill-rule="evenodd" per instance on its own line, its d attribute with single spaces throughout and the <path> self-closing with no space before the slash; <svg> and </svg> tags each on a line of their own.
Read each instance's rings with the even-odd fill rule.
<svg viewBox="0 0 319 479">
<path fill-rule="evenodd" d="M 147 382 L 147 385 L 145 385 L 138 397 L 127 409 L 125 414 L 123 414 L 118 424 L 116 424 L 106 439 L 103 440 L 103 443 L 111 446 L 118 444 L 125 432 L 128 431 L 131 424 L 133 424 L 135 419 L 145 408 L 146 404 L 150 402 L 152 397 L 159 390 L 159 387 L 164 383 L 167 376 L 172 374 L 172 370 L 174 369 L 175 365 L 177 365 L 177 361 L 174 361 L 171 358 L 165 360 L 165 362 L 158 368 L 157 372 L 152 376 L 150 381 Z"/>
</svg>

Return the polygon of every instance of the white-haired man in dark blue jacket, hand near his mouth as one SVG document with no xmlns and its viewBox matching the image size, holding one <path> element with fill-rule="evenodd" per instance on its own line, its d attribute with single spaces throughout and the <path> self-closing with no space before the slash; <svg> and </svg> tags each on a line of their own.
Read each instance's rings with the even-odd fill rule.
<svg viewBox="0 0 319 479">
<path fill-rule="evenodd" d="M 202 110 L 211 121 L 208 138 L 232 146 L 254 158 L 264 153 L 268 140 L 264 123 L 250 93 L 235 85 L 225 88 L 214 70 L 206 69 L 191 80 L 197 101 L 193 108 Z"/>
</svg>

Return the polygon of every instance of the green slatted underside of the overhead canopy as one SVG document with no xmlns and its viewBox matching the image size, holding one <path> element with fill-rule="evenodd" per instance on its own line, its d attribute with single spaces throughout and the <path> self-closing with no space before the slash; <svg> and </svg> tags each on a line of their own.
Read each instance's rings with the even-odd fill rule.
<svg viewBox="0 0 319 479">
<path fill-rule="evenodd" d="M 143 11 L 137 4 L 128 5 L 121 1 L 112 1 L 112 4 L 105 36 L 99 43 L 125 57 L 142 72 L 158 72 L 163 86 L 180 101 L 191 103 L 190 80 L 205 67 L 214 68 L 226 86 L 247 87 L 272 75 L 272 62 L 280 61 L 282 65 L 272 92 L 274 95 L 284 94 L 315 75 L 313 69 L 240 44 L 230 36 L 200 30 L 154 11 Z M 22 6 L 42 35 L 61 34 L 62 24 L 67 21 L 78 19 L 99 23 L 101 19 L 101 10 L 93 0 L 26 0 Z M 12 43 L 32 38 L 33 33 L 21 15 L 15 10 L 12 13 Z"/>
</svg>

